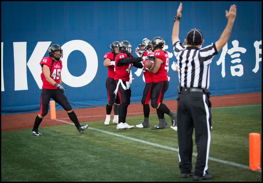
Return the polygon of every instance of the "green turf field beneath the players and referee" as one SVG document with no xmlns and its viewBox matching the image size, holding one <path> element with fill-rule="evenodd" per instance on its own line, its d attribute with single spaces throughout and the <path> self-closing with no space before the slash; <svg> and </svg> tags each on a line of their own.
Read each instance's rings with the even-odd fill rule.
<svg viewBox="0 0 263 183">
<path fill-rule="evenodd" d="M 258 103 L 212 109 L 208 181 L 262 181 L 261 171 L 249 170 L 249 133 L 262 134 L 261 108 Z M 1 181 L 193 181 L 180 178 L 177 132 L 165 117 L 168 126 L 160 130 L 151 130 L 158 124 L 151 114 L 145 129 L 116 130 L 112 120 L 109 126 L 99 120 L 82 123 L 90 125 L 82 134 L 71 124 L 40 127 L 42 136 L 33 136 L 32 129 L 2 132 Z M 135 126 L 142 120 L 126 122 Z M 194 168 L 195 143 L 192 162 Z"/>
</svg>

